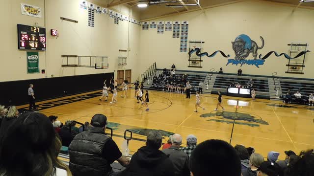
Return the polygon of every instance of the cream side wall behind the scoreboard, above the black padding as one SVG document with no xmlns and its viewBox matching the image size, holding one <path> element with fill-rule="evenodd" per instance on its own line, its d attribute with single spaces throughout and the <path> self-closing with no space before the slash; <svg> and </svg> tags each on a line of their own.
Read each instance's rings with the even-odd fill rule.
<svg viewBox="0 0 314 176">
<path fill-rule="evenodd" d="M 45 2 L 46 1 L 46 8 Z M 34 18 L 21 14 L 20 3 L 39 6 L 46 11 L 46 16 Z M 129 22 L 113 23 L 113 18 L 105 14 L 95 13 L 95 27 L 87 26 L 88 10 L 79 7 L 80 0 L 10 0 L 1 5 L 0 21 L 3 41 L 0 44 L 2 63 L 0 65 L 0 82 L 36 79 L 45 77 L 72 76 L 82 74 L 96 74 L 114 72 L 124 69 L 118 67 L 118 56 L 127 55 L 119 49 L 128 49 L 128 34 L 130 34 L 130 52 L 128 65 L 125 69 L 132 69 L 136 65 L 138 55 L 138 41 L 140 26 Z M 129 15 L 129 8 L 123 5 L 113 7 L 124 15 Z M 44 12 L 43 12 L 44 14 Z M 138 17 L 133 12 L 133 17 Z M 4 18 L 7 17 L 7 18 Z M 77 20 L 78 23 L 60 20 L 65 17 Z M 39 52 L 40 69 L 46 69 L 46 74 L 26 73 L 26 51 L 17 49 L 17 24 L 35 25 L 46 27 L 47 51 Z M 50 29 L 57 29 L 59 37 L 52 37 Z M 2 33 L 1 32 L 1 33 Z M 85 56 L 108 56 L 108 69 L 94 69 L 86 67 L 61 67 L 62 54 Z M 47 63 L 46 63 L 47 62 Z M 138 70 L 132 69 L 132 81 L 136 80 Z"/>
</svg>

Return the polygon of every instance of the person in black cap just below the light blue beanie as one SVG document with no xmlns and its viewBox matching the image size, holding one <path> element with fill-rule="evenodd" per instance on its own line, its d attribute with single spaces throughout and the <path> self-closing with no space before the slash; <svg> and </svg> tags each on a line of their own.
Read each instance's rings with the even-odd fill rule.
<svg viewBox="0 0 314 176">
<path fill-rule="evenodd" d="M 281 173 L 277 163 L 264 161 L 257 170 L 257 176 L 279 176 Z"/>
</svg>

